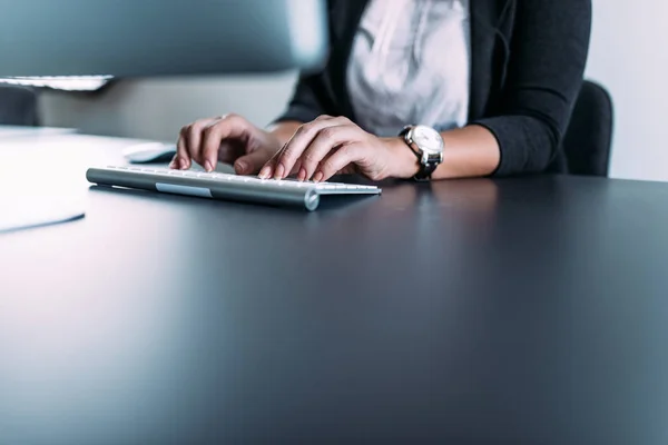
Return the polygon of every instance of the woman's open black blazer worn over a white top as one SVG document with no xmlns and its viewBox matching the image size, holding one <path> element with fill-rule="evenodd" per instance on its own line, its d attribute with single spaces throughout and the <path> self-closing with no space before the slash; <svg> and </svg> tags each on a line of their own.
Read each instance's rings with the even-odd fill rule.
<svg viewBox="0 0 668 445">
<path fill-rule="evenodd" d="M 367 3 L 328 0 L 327 62 L 299 76 L 277 121 L 307 122 L 320 115 L 355 120 L 346 68 Z M 501 162 L 495 175 L 566 171 L 561 140 L 582 85 L 591 0 L 470 0 L 470 4 L 469 123 L 497 137 Z"/>
</svg>

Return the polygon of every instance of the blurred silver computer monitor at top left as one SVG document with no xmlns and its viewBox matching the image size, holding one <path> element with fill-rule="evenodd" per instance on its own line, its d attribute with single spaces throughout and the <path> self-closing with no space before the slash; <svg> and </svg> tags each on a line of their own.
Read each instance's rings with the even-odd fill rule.
<svg viewBox="0 0 668 445">
<path fill-rule="evenodd" d="M 16 0 L 0 77 L 155 77 L 318 66 L 324 0 Z"/>
</svg>

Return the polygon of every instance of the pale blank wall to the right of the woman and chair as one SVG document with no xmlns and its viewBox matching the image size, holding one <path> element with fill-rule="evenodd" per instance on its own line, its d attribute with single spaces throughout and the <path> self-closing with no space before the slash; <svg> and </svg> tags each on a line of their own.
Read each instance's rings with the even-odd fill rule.
<svg viewBox="0 0 668 445">
<path fill-rule="evenodd" d="M 595 2 L 588 76 L 615 100 L 611 176 L 668 180 L 668 2 Z"/>
</svg>

